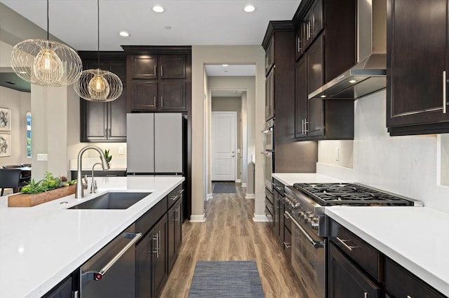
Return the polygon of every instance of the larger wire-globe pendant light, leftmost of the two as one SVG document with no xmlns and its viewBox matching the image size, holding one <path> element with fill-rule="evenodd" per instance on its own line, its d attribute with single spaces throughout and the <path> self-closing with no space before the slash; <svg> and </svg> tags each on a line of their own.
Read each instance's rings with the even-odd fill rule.
<svg viewBox="0 0 449 298">
<path fill-rule="evenodd" d="M 35 85 L 72 85 L 83 69 L 81 58 L 69 46 L 50 41 L 49 35 L 47 0 L 47 39 L 27 39 L 15 45 L 11 67 L 20 78 Z"/>
</svg>

